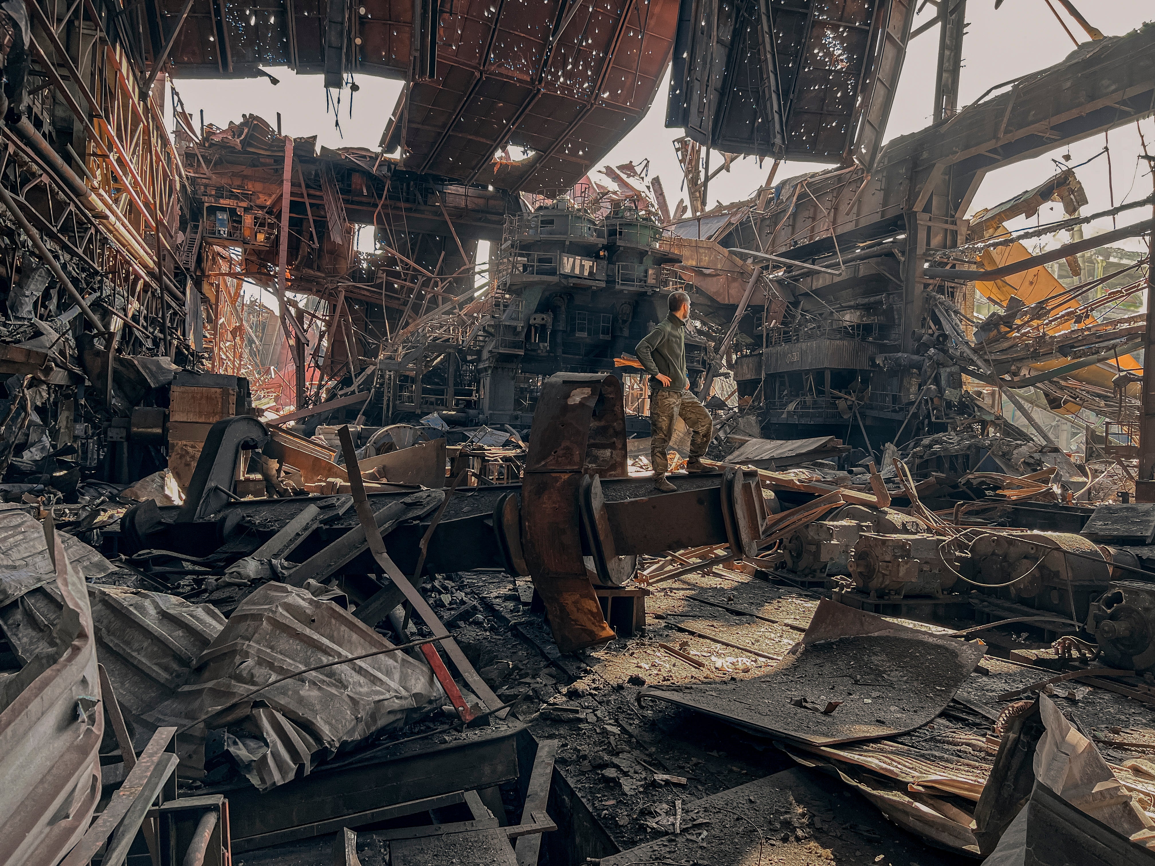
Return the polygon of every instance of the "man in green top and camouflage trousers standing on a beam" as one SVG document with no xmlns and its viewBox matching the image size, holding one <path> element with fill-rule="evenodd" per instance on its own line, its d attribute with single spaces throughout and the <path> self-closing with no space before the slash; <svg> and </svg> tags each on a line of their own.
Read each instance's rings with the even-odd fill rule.
<svg viewBox="0 0 1155 866">
<path fill-rule="evenodd" d="M 635 350 L 642 368 L 650 374 L 650 463 L 654 487 L 663 493 L 676 490 L 666 479 L 670 469 L 666 449 L 678 417 L 691 430 L 688 472 L 706 472 L 702 455 L 714 435 L 710 413 L 690 390 L 686 373 L 686 321 L 690 319 L 690 296 L 670 294 L 670 314 L 651 330 Z"/>
</svg>

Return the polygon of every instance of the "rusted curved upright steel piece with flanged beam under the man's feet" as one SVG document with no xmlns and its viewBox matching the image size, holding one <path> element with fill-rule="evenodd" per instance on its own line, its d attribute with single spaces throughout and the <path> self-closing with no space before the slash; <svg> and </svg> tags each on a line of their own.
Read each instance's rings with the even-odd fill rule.
<svg viewBox="0 0 1155 866">
<path fill-rule="evenodd" d="M 564 652 L 613 640 L 591 580 L 620 587 L 639 554 L 707 544 L 757 553 L 766 524 L 757 478 L 728 469 L 679 479 L 678 493 L 606 501 L 602 479 L 626 476 L 620 381 L 589 373 L 545 380 L 522 480 L 521 538 Z"/>
</svg>

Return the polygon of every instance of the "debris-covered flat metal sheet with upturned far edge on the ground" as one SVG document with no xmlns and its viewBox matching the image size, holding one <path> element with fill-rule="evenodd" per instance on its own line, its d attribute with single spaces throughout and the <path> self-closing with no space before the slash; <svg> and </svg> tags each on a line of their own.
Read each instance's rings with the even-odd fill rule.
<svg viewBox="0 0 1155 866">
<path fill-rule="evenodd" d="M 772 673 L 683 689 L 647 688 L 639 700 L 666 701 L 795 742 L 869 740 L 934 718 L 984 649 L 824 599 L 802 642 Z"/>
</svg>

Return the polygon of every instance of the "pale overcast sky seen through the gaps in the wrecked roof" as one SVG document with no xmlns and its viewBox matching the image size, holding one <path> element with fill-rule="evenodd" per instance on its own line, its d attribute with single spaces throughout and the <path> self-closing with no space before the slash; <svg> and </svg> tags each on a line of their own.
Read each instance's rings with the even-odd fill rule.
<svg viewBox="0 0 1155 866">
<path fill-rule="evenodd" d="M 1056 2 L 1053 6 L 1060 10 L 1075 37 L 1086 40 L 1087 36 L 1061 10 L 1059 3 Z M 1082 0 L 1078 6 L 1090 23 L 1108 36 L 1126 33 L 1143 21 L 1155 20 L 1155 3 L 1152 0 L 1096 0 L 1095 2 Z M 1071 38 L 1063 31 L 1044 0 L 1006 0 L 998 10 L 993 7 L 993 0 L 970 0 L 968 3 L 969 27 L 963 43 L 960 105 L 973 102 L 993 84 L 1051 66 L 1074 48 Z M 916 27 L 932 17 L 934 7 L 927 3 L 916 21 Z M 937 29 L 932 29 L 910 44 L 886 130 L 887 139 L 912 133 L 930 125 L 937 53 Z M 333 106 L 326 104 L 326 92 L 321 87 L 320 76 L 293 75 L 286 69 L 275 68 L 270 68 L 270 72 L 281 80 L 280 84 L 274 85 L 267 79 L 240 81 L 180 79 L 176 85 L 194 122 L 199 121 L 199 112 L 203 110 L 206 122 L 218 126 L 226 126 L 230 120 L 240 120 L 243 113 L 249 112 L 255 112 L 270 124 L 275 124 L 276 113 L 280 111 L 282 128 L 286 134 L 295 136 L 315 134 L 321 144 L 331 148 L 358 145 L 372 149 L 377 148 L 397 94 L 401 91 L 398 81 L 386 81 L 368 75 L 358 76 L 357 83 L 360 85 L 358 92 L 351 94 L 348 89 L 340 91 L 342 137 L 335 127 Z M 336 91 L 330 94 L 337 96 Z M 666 89 L 663 88 L 655 97 L 649 113 L 609 154 L 603 164 L 618 165 L 629 160 L 636 164 L 648 157 L 650 174 L 662 177 L 672 208 L 684 195 L 679 192 L 681 174 L 672 145 L 673 140 L 681 135 L 681 130 L 664 127 L 665 98 Z M 1155 154 L 1155 121 L 1148 118 L 1142 121 L 1141 127 L 1148 148 Z M 1141 150 L 1135 125 L 1131 124 L 1112 132 L 1110 148 L 1116 204 L 1150 194 L 1150 178 L 1146 174 L 1146 169 L 1139 164 L 1138 154 Z M 1086 139 L 1070 148 L 1071 164 L 1081 163 L 1102 149 L 1102 135 Z M 997 204 L 1042 182 L 1055 172 L 1051 158 L 1060 156 L 1064 151 L 1065 149 L 1060 149 L 988 176 L 978 191 L 971 212 Z M 711 163 L 716 167 L 721 163 L 721 157 L 715 155 Z M 729 174 L 722 173 L 710 182 L 710 203 L 747 197 L 763 182 L 769 166 L 770 162 L 767 160 L 765 166 L 759 169 L 757 160 L 752 158 L 735 163 Z M 829 166 L 785 163 L 780 166 L 775 180 L 825 167 Z M 1083 166 L 1078 170 L 1078 174 L 1090 200 L 1089 208 L 1085 209 L 1085 212 L 1109 208 L 1106 157 L 1100 157 Z M 1058 218 L 1059 206 L 1052 208 L 1051 217 Z M 1046 218 L 1048 212 L 1044 209 L 1044 222 Z M 1138 215 L 1124 214 L 1120 222 L 1127 224 L 1138 218 L 1140 218 Z M 1094 227 L 1104 230 L 1102 225 Z M 1111 227 L 1110 219 L 1105 221 L 1105 227 Z"/>
</svg>

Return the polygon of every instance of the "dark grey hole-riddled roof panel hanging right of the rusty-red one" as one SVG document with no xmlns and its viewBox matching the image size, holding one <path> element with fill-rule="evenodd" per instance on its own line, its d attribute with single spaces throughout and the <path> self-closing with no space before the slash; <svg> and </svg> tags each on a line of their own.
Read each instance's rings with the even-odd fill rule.
<svg viewBox="0 0 1155 866">
<path fill-rule="evenodd" d="M 840 163 L 860 129 L 873 150 L 912 17 L 904 0 L 681 0 L 666 126 L 733 154 Z"/>
</svg>

